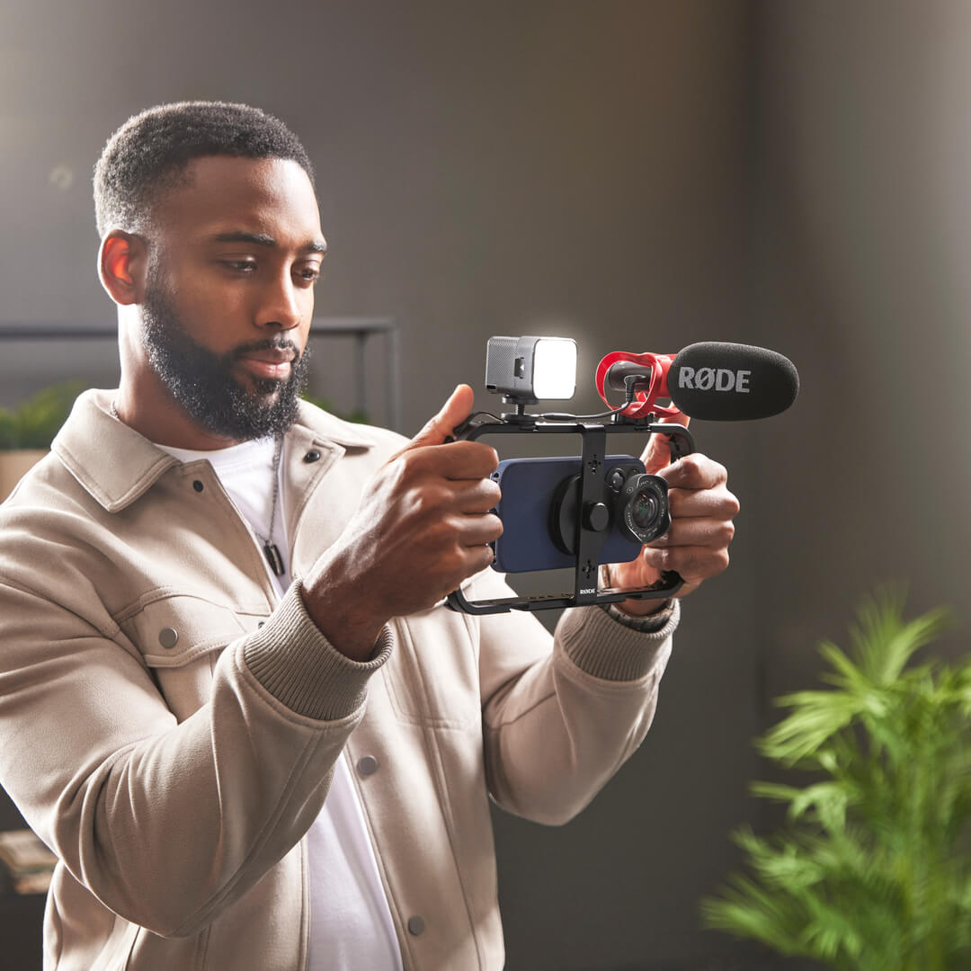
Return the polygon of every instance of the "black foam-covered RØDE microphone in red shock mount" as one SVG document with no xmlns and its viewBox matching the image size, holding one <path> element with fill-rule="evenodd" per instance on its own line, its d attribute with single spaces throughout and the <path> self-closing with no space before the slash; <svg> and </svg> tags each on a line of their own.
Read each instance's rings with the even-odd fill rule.
<svg viewBox="0 0 971 971">
<path fill-rule="evenodd" d="M 633 392 L 636 401 L 625 406 L 633 418 L 675 409 L 655 405 L 670 398 L 678 411 L 693 419 L 745 421 L 779 415 L 799 393 L 799 375 L 782 354 L 748 344 L 703 341 L 669 354 L 608 354 L 597 369 L 597 389 L 604 385 Z"/>
</svg>

